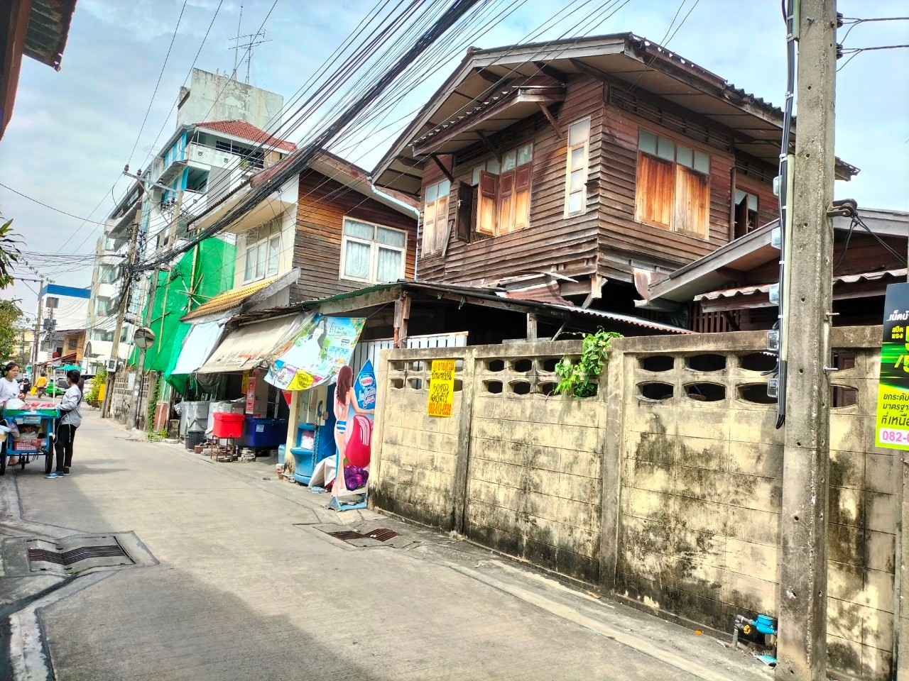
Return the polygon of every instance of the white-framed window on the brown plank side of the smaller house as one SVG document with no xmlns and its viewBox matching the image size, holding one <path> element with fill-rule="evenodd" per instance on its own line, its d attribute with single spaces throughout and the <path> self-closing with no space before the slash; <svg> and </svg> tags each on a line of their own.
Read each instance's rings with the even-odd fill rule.
<svg viewBox="0 0 909 681">
<path fill-rule="evenodd" d="M 381 224 L 344 219 L 341 279 L 387 283 L 405 278 L 407 232 Z"/>
</svg>

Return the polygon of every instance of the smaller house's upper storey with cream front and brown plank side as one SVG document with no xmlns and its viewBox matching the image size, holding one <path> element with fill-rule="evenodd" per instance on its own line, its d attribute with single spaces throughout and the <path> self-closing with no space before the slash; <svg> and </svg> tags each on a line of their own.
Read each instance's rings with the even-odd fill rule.
<svg viewBox="0 0 909 681">
<path fill-rule="evenodd" d="M 254 175 L 243 191 L 192 226 L 203 230 L 230 214 L 249 192 L 295 160 L 292 154 Z M 413 279 L 417 206 L 399 192 L 375 191 L 365 170 L 321 153 L 227 226 L 225 232 L 236 235 L 236 259 L 229 263 L 234 288 L 183 319 L 226 319 Z"/>
</svg>

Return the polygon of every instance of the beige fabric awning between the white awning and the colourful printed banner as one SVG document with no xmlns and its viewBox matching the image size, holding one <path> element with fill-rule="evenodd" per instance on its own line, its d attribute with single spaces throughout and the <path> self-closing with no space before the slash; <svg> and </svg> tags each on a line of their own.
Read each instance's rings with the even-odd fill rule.
<svg viewBox="0 0 909 681">
<path fill-rule="evenodd" d="M 246 324 L 227 334 L 196 372 L 225 373 L 252 369 L 303 326 L 308 313 Z"/>
</svg>

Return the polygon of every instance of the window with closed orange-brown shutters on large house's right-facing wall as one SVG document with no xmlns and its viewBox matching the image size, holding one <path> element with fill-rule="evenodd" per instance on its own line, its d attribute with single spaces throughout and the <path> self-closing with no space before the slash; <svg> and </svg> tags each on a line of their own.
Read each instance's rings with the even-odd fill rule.
<svg viewBox="0 0 909 681">
<path fill-rule="evenodd" d="M 710 156 L 640 131 L 634 219 L 706 239 L 710 221 Z"/>
</svg>

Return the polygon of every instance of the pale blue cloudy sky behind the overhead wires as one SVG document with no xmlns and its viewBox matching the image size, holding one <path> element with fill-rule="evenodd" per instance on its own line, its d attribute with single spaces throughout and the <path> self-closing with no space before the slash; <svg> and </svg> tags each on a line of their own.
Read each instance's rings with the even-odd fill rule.
<svg viewBox="0 0 909 681">
<path fill-rule="evenodd" d="M 243 34 L 262 25 L 273 2 L 244 0 Z M 251 84 L 283 94 L 286 103 L 380 4 L 277 0 L 265 22 L 269 42 L 255 48 Z M 177 92 L 218 5 L 218 0 L 186 0 L 174 36 L 183 0 L 78 0 L 62 70 L 56 73 L 32 59 L 23 60 L 13 119 L 0 141 L 0 183 L 62 211 L 103 222 L 127 187 L 121 174 L 125 163 L 134 170 L 143 167 L 147 154 L 157 151 L 173 131 Z M 674 52 L 728 82 L 774 104 L 783 103 L 785 34 L 776 0 L 616 1 L 614 6 L 621 8 L 605 21 L 590 19 L 590 12 L 603 6 L 600 2 L 583 6 L 579 0 L 517 0 L 514 5 L 514 11 L 482 34 L 452 37 L 449 58 L 411 88 L 382 124 L 402 120 L 363 143 L 342 144 L 333 151 L 372 169 L 407 123 L 405 114 L 425 103 L 468 46 L 521 42 L 568 5 L 577 5 L 577 12 L 546 28 L 537 39 L 565 32 L 631 31 L 657 43 L 668 42 Z M 847 17 L 906 14 L 904 0 L 840 0 L 839 10 Z M 230 38 L 237 33 L 240 13 L 237 0 L 221 2 L 195 63 L 198 68 L 222 73 L 233 68 Z M 845 29 L 840 35 L 844 33 Z M 162 71 L 172 37 L 173 48 Z M 869 22 L 855 26 L 844 46 L 907 43 L 909 22 Z M 858 54 L 837 75 L 836 153 L 862 170 L 851 183 L 837 183 L 838 198 L 853 197 L 865 207 L 909 209 L 906 73 L 909 50 L 904 49 Z M 291 139 L 299 141 L 301 134 Z M 3 187 L 0 215 L 15 220 L 15 230 L 33 252 L 92 253 L 102 231 L 98 224 L 50 211 Z M 87 286 L 91 281 L 90 256 L 75 266 L 49 267 L 40 259 L 30 263 L 57 283 Z M 34 276 L 26 270 L 21 274 Z M 21 299 L 25 311 L 34 315 L 35 293 L 29 286 L 35 284 L 17 282 L 0 295 Z"/>
</svg>

